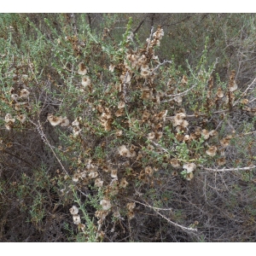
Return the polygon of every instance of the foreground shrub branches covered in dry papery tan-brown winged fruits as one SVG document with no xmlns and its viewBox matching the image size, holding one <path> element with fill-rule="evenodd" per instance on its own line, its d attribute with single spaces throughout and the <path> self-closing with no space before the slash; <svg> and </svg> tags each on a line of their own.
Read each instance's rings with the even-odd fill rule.
<svg viewBox="0 0 256 256">
<path fill-rule="evenodd" d="M 139 240 L 136 223 L 148 221 L 144 213 L 199 241 L 205 213 L 182 212 L 176 201 L 190 191 L 196 203 L 208 203 L 218 193 L 214 178 L 215 185 L 232 183 L 229 173 L 239 177 L 255 168 L 252 145 L 245 147 L 247 158 L 232 157 L 240 154 L 234 143 L 249 133 L 233 120 L 254 117 L 254 81 L 241 90 L 235 71 L 227 83 L 214 79 L 218 63 L 207 67 L 207 47 L 195 70 L 180 73 L 173 60 L 155 55 L 164 37 L 160 26 L 143 47 L 132 37 L 131 21 L 119 44 L 86 29 L 84 38 L 56 38 L 55 57 L 61 48 L 68 54 L 61 56 L 63 67 L 55 65 L 64 81 L 55 89 L 50 76 L 39 86 L 31 61 L 8 67 L 12 83 L 1 92 L 6 132 L 38 132 L 63 172 L 61 195 L 78 204 L 69 212 L 84 241 L 112 241 L 111 234 Z"/>
</svg>

